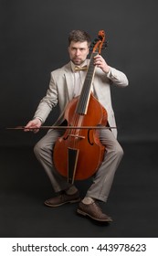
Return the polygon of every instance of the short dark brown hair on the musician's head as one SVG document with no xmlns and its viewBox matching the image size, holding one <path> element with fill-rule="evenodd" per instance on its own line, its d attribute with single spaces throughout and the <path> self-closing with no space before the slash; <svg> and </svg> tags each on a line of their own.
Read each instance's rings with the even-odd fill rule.
<svg viewBox="0 0 158 256">
<path fill-rule="evenodd" d="M 71 41 L 74 41 L 74 42 L 87 41 L 90 47 L 90 35 L 83 30 L 72 30 L 68 35 L 68 46 L 70 45 Z"/>
</svg>

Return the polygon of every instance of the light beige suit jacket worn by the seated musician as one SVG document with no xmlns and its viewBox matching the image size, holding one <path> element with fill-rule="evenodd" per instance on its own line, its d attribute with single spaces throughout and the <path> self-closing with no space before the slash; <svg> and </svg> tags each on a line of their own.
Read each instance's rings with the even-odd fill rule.
<svg viewBox="0 0 158 256">
<path fill-rule="evenodd" d="M 128 79 L 121 71 L 111 68 L 108 74 L 105 74 L 100 68 L 96 68 L 93 80 L 93 89 L 96 98 L 108 112 L 108 122 L 111 126 L 116 126 L 114 112 L 111 104 L 111 84 L 114 83 L 119 87 L 126 87 Z M 51 72 L 51 78 L 47 95 L 39 102 L 37 112 L 34 118 L 38 117 L 44 123 L 49 112 L 57 104 L 59 106 L 60 115 L 54 125 L 59 125 L 64 121 L 64 112 L 69 101 L 73 99 L 74 85 L 73 72 L 70 62 L 61 69 Z M 115 137 L 117 130 L 113 129 Z"/>
</svg>

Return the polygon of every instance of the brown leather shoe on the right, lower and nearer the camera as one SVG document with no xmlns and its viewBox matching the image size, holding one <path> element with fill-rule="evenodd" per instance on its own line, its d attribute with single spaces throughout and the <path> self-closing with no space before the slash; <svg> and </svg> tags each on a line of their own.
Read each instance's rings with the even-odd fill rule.
<svg viewBox="0 0 158 256">
<path fill-rule="evenodd" d="M 100 206 L 96 202 L 93 202 L 90 205 L 86 205 L 80 202 L 77 212 L 80 215 L 89 216 L 91 219 L 95 219 L 98 221 L 112 221 L 111 217 L 107 216 L 105 213 L 102 212 Z"/>
</svg>

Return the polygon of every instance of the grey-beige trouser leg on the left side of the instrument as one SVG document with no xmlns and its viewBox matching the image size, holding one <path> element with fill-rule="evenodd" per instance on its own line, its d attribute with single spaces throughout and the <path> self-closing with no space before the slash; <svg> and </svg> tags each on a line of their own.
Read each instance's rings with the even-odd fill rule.
<svg viewBox="0 0 158 256">
<path fill-rule="evenodd" d="M 55 192 L 71 187 L 67 182 L 67 178 L 60 176 L 53 164 L 53 147 L 58 137 L 63 133 L 62 129 L 50 130 L 34 147 L 37 160 L 44 167 Z"/>
</svg>

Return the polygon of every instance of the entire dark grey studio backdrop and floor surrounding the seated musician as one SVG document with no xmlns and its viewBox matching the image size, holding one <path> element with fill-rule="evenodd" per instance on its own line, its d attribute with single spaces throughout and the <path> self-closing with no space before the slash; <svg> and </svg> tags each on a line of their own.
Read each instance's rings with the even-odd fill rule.
<svg viewBox="0 0 158 256">
<path fill-rule="evenodd" d="M 44 207 L 53 189 L 33 145 L 46 131 L 5 130 L 32 118 L 50 71 L 68 62 L 71 29 L 104 29 L 102 55 L 130 81 L 111 91 L 125 155 L 102 205 L 107 227 L 79 218 L 76 204 Z M 157 1 L 0 0 L 0 35 L 0 237 L 157 237 Z M 76 183 L 81 197 L 89 182 Z"/>
</svg>

